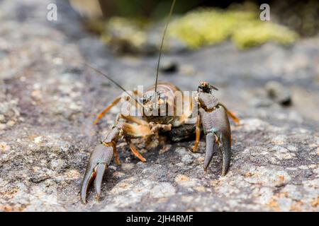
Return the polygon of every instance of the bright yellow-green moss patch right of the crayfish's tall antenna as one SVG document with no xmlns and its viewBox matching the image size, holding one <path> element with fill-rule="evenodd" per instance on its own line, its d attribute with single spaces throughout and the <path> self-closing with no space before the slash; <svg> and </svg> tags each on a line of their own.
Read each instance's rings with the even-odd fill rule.
<svg viewBox="0 0 319 226">
<path fill-rule="evenodd" d="M 169 35 L 183 40 L 191 49 L 216 44 L 230 38 L 240 48 L 265 42 L 291 44 L 296 33 L 272 21 L 259 20 L 256 11 L 201 9 L 178 18 L 169 25 Z"/>
</svg>

